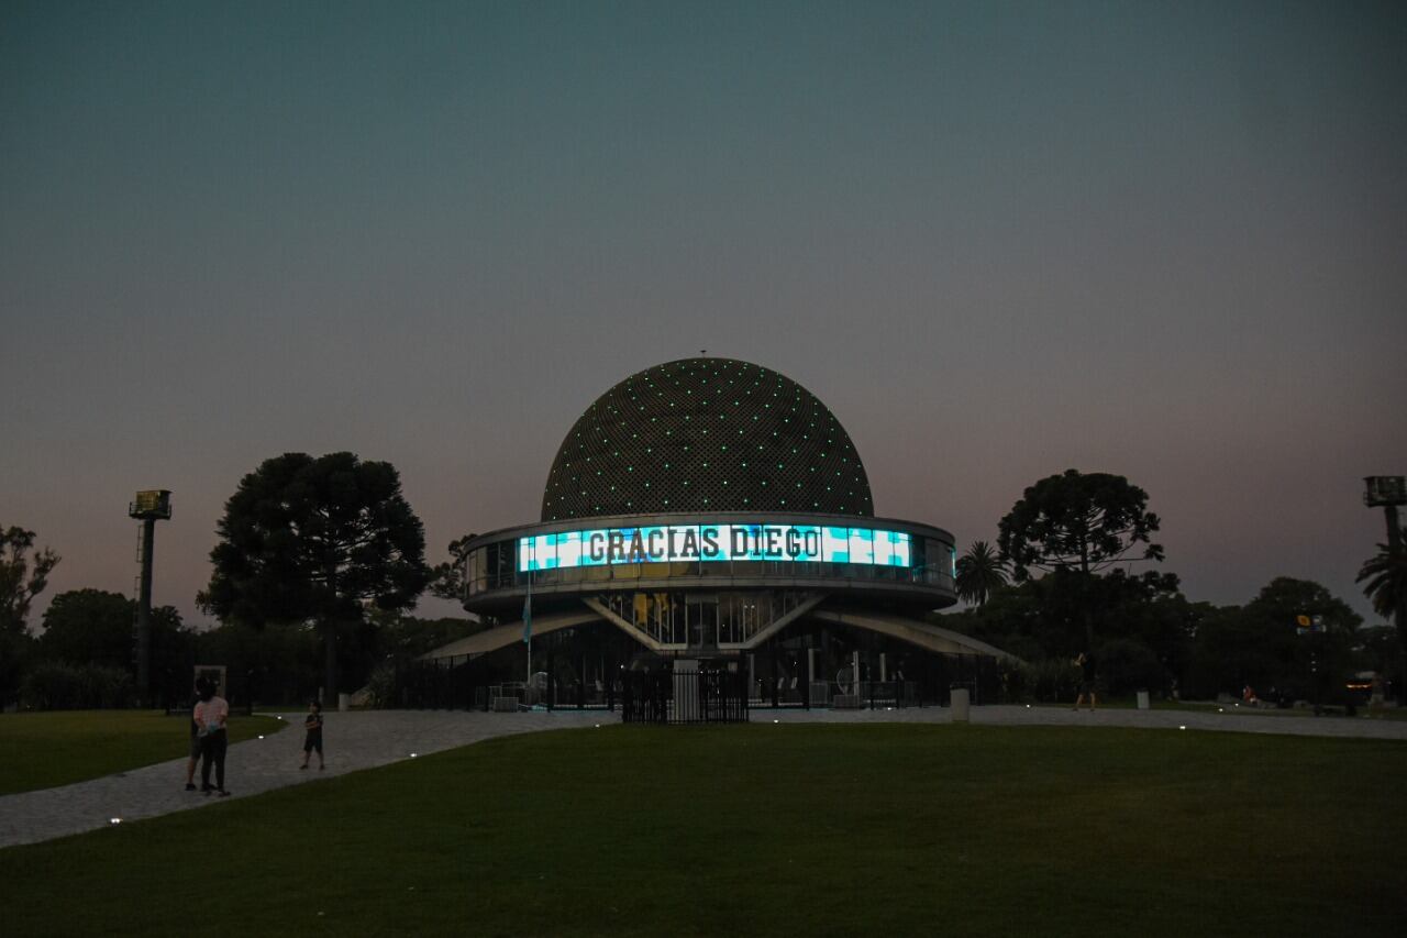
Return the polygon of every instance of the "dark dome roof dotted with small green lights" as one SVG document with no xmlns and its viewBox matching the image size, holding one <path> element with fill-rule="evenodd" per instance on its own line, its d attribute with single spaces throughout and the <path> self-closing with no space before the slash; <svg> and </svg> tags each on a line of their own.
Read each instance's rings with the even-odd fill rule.
<svg viewBox="0 0 1407 938">
<path fill-rule="evenodd" d="M 687 358 L 632 375 L 587 408 L 547 473 L 542 520 L 673 511 L 874 515 L 850 435 L 774 370 Z"/>
</svg>

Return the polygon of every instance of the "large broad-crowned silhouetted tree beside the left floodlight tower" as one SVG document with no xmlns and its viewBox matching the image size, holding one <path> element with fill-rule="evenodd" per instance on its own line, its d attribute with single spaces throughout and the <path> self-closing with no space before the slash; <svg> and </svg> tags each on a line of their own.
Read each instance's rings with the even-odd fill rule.
<svg viewBox="0 0 1407 938">
<path fill-rule="evenodd" d="M 284 454 L 245 476 L 225 503 L 203 608 L 250 625 L 315 623 L 326 693 L 339 690 L 338 632 L 366 606 L 415 606 L 429 582 L 425 530 L 388 462 L 350 452 Z"/>
</svg>

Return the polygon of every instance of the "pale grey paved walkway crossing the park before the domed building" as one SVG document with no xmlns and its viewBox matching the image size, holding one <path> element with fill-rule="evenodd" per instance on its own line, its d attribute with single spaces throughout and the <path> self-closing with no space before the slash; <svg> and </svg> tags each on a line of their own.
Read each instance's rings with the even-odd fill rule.
<svg viewBox="0 0 1407 938">
<path fill-rule="evenodd" d="M 492 737 L 539 730 L 615 724 L 619 714 L 559 710 L 519 714 L 371 710 L 329 713 L 328 768 L 300 770 L 303 714 L 286 714 L 294 725 L 265 739 L 229 746 L 225 786 L 246 797 L 371 769 L 390 762 L 469 745 Z M 753 723 L 950 723 L 953 711 L 938 707 L 909 710 L 771 710 L 754 708 Z M 1358 737 L 1407 741 L 1407 723 L 1301 717 L 1279 714 L 1193 713 L 1178 710 L 1099 710 L 1072 713 L 1059 707 L 972 707 L 974 725 L 1090 725 L 1144 727 L 1176 731 L 1217 730 L 1314 737 Z M 0 796 L 0 848 L 34 844 L 108 827 L 111 818 L 135 821 L 212 804 L 219 799 L 186 792 L 186 759 L 120 772 L 58 789 Z"/>
</svg>

